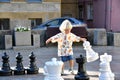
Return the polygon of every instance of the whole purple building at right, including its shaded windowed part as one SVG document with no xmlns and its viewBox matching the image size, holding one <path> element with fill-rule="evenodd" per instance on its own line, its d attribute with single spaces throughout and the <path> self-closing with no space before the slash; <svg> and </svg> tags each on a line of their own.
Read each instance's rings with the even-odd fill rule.
<svg viewBox="0 0 120 80">
<path fill-rule="evenodd" d="M 120 32 L 119 0 L 79 0 L 79 18 L 89 28 L 105 28 L 109 32 Z"/>
</svg>

